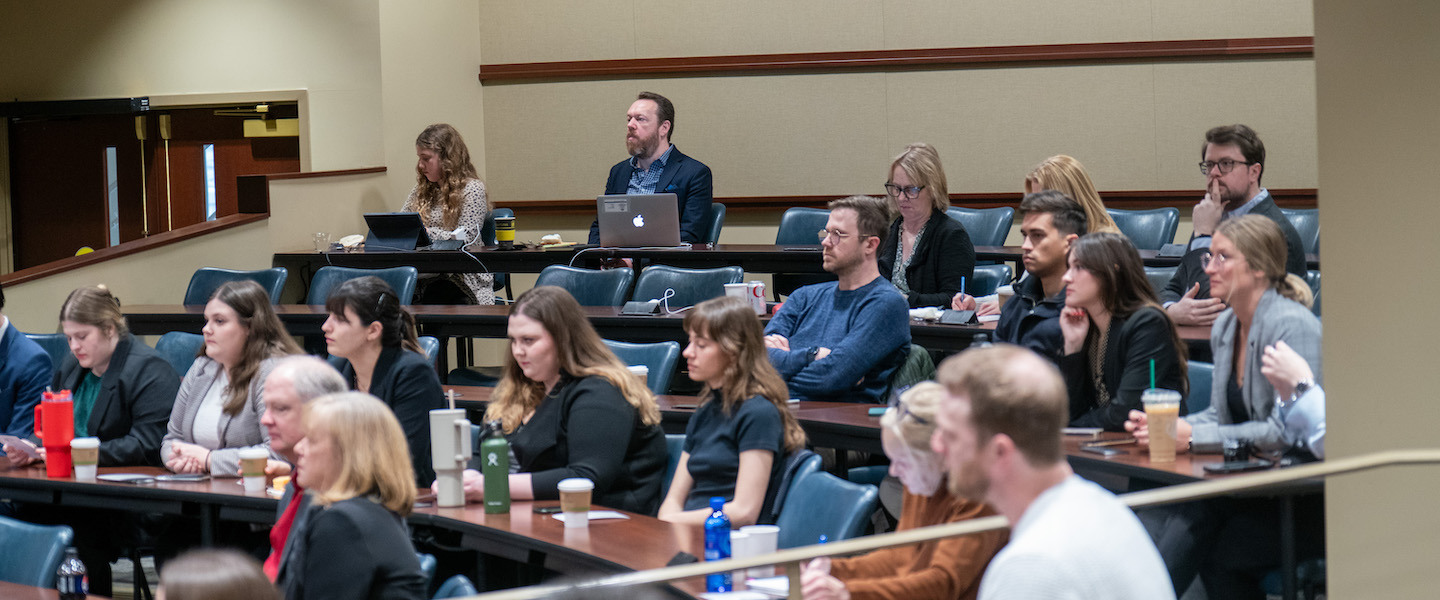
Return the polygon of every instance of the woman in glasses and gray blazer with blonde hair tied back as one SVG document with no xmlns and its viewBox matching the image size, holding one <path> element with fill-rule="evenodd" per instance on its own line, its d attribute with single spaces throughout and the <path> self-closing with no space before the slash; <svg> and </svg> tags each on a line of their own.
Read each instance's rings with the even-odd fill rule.
<svg viewBox="0 0 1440 600">
<path fill-rule="evenodd" d="M 1261 452 L 1290 447 L 1284 423 L 1274 410 L 1274 386 L 1261 373 L 1261 348 L 1279 341 L 1293 348 L 1320 373 L 1320 319 L 1305 279 L 1284 271 L 1286 243 L 1280 227 L 1267 217 L 1247 214 L 1220 223 L 1202 260 L 1210 292 L 1227 308 L 1210 329 L 1215 360 L 1210 409 L 1181 419 L 1175 443 L 1179 452 L 1220 452 L 1236 440 Z M 1316 377 L 1318 378 L 1318 377 Z M 1145 413 L 1130 413 L 1126 429 L 1148 443 Z"/>
</svg>

